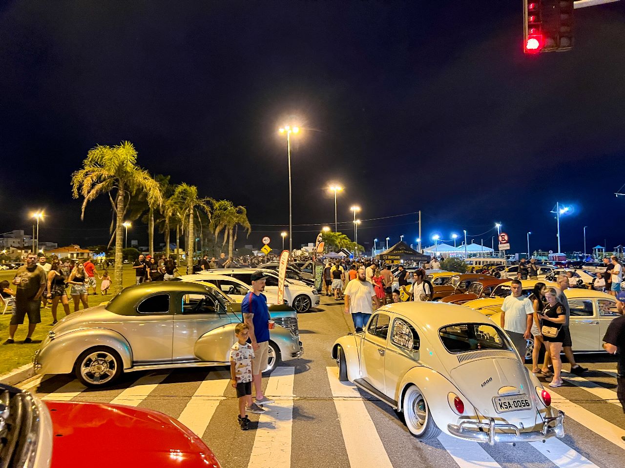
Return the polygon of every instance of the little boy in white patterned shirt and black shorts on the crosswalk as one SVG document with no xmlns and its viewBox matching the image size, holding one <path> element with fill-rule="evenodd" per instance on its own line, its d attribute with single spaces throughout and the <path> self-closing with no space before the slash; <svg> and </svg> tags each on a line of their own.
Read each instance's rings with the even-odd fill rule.
<svg viewBox="0 0 625 468">
<path fill-rule="evenodd" d="M 249 419 L 246 411 L 261 413 L 264 411 L 256 404 L 252 404 L 252 359 L 254 351 L 247 343 L 249 331 L 245 323 L 237 323 L 234 327 L 237 342 L 230 349 L 230 378 L 232 388 L 236 388 L 239 399 L 239 426 L 241 431 L 249 429 Z"/>
</svg>

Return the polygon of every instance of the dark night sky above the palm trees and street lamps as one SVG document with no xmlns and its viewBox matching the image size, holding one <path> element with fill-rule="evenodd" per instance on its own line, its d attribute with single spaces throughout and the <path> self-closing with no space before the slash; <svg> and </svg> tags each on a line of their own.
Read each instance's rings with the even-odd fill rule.
<svg viewBox="0 0 625 468">
<path fill-rule="evenodd" d="M 573 51 L 524 56 L 521 0 L 54 1 L 0 6 L 0 232 L 106 243 L 110 206 L 70 192 L 96 144 L 247 207 L 249 240 L 334 222 L 359 243 L 466 229 L 512 252 L 625 244 L 625 2 L 577 9 Z M 404 216 L 397 216 L 404 215 Z M 373 219 L 376 218 L 376 219 Z M 146 245 L 135 223 L 129 238 Z M 471 238 L 471 236 L 473 236 Z M 241 239 L 241 238 L 240 238 Z M 159 235 L 156 239 L 162 241 Z"/>
</svg>

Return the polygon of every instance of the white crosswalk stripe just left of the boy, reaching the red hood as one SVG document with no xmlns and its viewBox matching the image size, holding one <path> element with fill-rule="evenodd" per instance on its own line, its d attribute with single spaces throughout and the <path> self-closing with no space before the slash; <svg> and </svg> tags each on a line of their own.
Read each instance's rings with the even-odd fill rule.
<svg viewBox="0 0 625 468">
<path fill-rule="evenodd" d="M 211 372 L 199 384 L 187 406 L 178 417 L 197 436 L 202 437 L 219 402 L 224 399 L 224 392 L 230 382 L 230 374 L 226 371 Z"/>
</svg>

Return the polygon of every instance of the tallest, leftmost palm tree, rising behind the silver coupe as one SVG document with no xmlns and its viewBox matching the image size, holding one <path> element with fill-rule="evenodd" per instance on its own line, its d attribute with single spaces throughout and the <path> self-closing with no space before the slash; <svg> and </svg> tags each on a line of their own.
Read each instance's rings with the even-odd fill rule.
<svg viewBox="0 0 625 468">
<path fill-rule="evenodd" d="M 149 172 L 137 165 L 137 151 L 131 142 L 114 147 L 98 145 L 89 150 L 83 168 L 72 174 L 72 195 L 82 195 L 81 219 L 87 203 L 99 195 L 109 195 L 115 215 L 115 267 L 113 291 L 122 289 L 122 248 L 124 244 L 124 215 L 133 195 L 141 192 L 151 205 L 161 202 L 158 183 Z"/>
</svg>

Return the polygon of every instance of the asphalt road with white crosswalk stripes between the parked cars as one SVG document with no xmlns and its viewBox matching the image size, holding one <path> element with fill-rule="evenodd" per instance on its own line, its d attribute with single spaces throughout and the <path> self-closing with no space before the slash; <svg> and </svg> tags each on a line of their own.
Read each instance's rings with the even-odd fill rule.
<svg viewBox="0 0 625 468">
<path fill-rule="evenodd" d="M 72 376 L 22 384 L 44 399 L 102 401 L 162 411 L 178 418 L 216 454 L 224 468 L 616 468 L 624 466 L 625 415 L 616 401 L 613 359 L 580 359 L 591 370 L 549 391 L 567 414 L 563 439 L 488 446 L 452 437 L 424 443 L 412 437 L 390 407 L 351 385 L 338 383 L 329 350 L 351 329 L 342 302 L 322 296 L 322 306 L 300 314 L 301 359 L 287 361 L 264 378 L 276 404 L 250 415 L 253 429 L 236 423 L 237 400 L 226 368 L 130 373 L 101 391 Z M 567 369 L 568 365 L 564 364 Z M 601 369 L 601 370 L 600 370 Z M 102 434 L 101 444 L 106 444 Z M 131 444 L 132 441 L 129 441 Z"/>
</svg>

